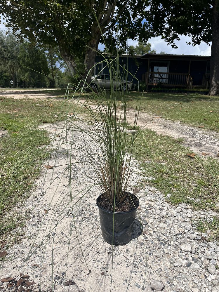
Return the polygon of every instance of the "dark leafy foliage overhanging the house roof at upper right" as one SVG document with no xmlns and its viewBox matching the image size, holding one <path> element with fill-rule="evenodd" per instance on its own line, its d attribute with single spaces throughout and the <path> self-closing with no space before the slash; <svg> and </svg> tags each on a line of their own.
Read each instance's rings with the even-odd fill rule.
<svg viewBox="0 0 219 292">
<path fill-rule="evenodd" d="M 145 12 L 147 29 L 161 36 L 177 48 L 175 40 L 189 35 L 192 44 L 212 40 L 211 22 L 214 0 L 148 0 L 150 9 Z"/>
</svg>

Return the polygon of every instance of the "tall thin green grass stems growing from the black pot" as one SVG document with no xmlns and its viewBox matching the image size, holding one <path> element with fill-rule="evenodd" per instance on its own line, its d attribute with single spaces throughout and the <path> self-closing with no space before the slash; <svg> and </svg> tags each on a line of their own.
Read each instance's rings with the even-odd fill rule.
<svg viewBox="0 0 219 292">
<path fill-rule="evenodd" d="M 82 105 L 91 125 L 88 125 L 87 120 L 81 119 L 86 127 L 82 129 L 81 126 L 76 126 L 75 130 L 82 131 L 92 138 L 93 143 L 90 147 L 84 141 L 85 147 L 81 147 L 81 150 L 93 170 L 93 183 L 99 186 L 101 192 L 114 205 L 114 202 L 120 203 L 126 198 L 133 173 L 132 148 L 139 130 L 137 121 L 140 102 L 135 108 L 131 134 L 127 136 L 127 130 L 130 129 L 128 123 L 130 89 L 122 90 L 119 84 L 121 80 L 127 80 L 128 72 L 125 67 L 119 65 L 119 55 L 114 59 L 109 55 L 104 63 L 111 79 L 109 93 L 107 95 L 104 89 L 92 91 Z M 132 75 L 132 78 L 135 77 Z M 88 87 L 86 86 L 86 89 Z"/>
</svg>

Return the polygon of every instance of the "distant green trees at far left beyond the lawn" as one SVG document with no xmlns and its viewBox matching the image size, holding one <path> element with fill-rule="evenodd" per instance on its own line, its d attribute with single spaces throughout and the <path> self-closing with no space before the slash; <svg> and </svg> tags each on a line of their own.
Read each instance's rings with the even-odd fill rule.
<svg viewBox="0 0 219 292">
<path fill-rule="evenodd" d="M 62 79 L 65 75 L 60 71 L 64 64 L 56 50 L 20 41 L 0 30 L 0 86 L 11 86 L 12 79 L 14 87 L 54 88 L 58 84 L 56 77 Z"/>
</svg>

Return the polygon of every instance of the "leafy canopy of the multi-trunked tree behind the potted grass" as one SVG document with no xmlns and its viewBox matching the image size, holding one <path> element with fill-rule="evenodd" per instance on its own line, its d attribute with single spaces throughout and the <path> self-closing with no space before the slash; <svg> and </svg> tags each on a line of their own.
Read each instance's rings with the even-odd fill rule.
<svg viewBox="0 0 219 292">
<path fill-rule="evenodd" d="M 85 73 L 93 67 L 101 33 L 114 47 L 115 31 L 123 48 L 128 38 L 147 41 L 143 22 L 146 9 L 146 0 L 2 0 L 0 3 L 7 27 L 31 42 L 58 45 L 72 74 L 77 71 L 77 58 L 83 58 Z"/>
</svg>

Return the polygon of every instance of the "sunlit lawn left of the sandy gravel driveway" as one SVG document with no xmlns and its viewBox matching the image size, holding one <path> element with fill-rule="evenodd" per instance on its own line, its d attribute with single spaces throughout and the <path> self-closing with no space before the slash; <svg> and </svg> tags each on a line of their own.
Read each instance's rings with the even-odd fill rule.
<svg viewBox="0 0 219 292">
<path fill-rule="evenodd" d="M 16 226 L 23 224 L 9 211 L 24 201 L 39 176 L 41 165 L 50 155 L 50 139 L 37 126 L 55 123 L 74 111 L 61 100 L 18 100 L 1 98 L 0 131 L 0 238 L 3 240 Z M 16 237 L 15 237 L 16 238 Z"/>
</svg>

